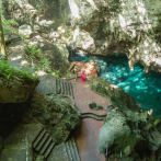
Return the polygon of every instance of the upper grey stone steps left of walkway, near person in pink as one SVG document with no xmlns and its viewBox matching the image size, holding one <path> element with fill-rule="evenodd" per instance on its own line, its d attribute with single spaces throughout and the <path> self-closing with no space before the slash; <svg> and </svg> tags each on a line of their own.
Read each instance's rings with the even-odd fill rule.
<svg viewBox="0 0 161 161">
<path fill-rule="evenodd" d="M 64 94 L 73 97 L 71 82 L 62 79 L 57 79 L 56 87 L 57 87 L 57 94 Z"/>
</svg>

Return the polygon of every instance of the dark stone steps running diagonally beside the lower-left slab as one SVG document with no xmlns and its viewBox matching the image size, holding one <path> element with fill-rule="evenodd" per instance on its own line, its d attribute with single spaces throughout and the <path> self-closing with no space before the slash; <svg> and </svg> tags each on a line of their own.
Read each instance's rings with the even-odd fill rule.
<svg viewBox="0 0 161 161">
<path fill-rule="evenodd" d="M 33 141 L 33 149 L 47 159 L 54 147 L 55 142 L 49 137 L 49 134 L 43 128 Z"/>
</svg>

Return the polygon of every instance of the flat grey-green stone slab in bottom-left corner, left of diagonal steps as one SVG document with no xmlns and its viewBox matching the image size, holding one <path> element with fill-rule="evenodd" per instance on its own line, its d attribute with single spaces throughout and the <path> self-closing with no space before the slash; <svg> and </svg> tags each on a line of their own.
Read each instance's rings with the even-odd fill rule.
<svg viewBox="0 0 161 161">
<path fill-rule="evenodd" d="M 26 160 L 26 134 L 28 145 L 28 160 L 33 160 L 32 142 L 43 128 L 42 124 L 20 124 L 3 142 L 0 161 Z"/>
</svg>

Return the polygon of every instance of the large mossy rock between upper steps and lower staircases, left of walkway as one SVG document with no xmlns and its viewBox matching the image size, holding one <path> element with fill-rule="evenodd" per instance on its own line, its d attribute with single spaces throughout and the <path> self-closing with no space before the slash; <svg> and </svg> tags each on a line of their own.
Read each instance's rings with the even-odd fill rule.
<svg viewBox="0 0 161 161">
<path fill-rule="evenodd" d="M 56 95 L 41 95 L 35 92 L 31 107 L 33 116 L 46 126 L 56 143 L 65 141 L 70 131 L 81 124 L 79 111 Z"/>
</svg>

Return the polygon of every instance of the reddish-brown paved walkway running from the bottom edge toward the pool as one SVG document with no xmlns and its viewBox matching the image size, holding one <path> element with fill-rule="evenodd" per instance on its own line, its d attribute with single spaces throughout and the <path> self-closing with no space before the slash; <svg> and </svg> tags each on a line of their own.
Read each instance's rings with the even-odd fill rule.
<svg viewBox="0 0 161 161">
<path fill-rule="evenodd" d="M 110 101 L 97 93 L 93 92 L 89 82 L 70 80 L 72 83 L 76 106 L 81 113 L 94 113 L 96 115 L 106 114 L 105 106 Z M 88 103 L 95 102 L 103 106 L 101 111 L 93 111 L 88 106 Z M 104 161 L 104 154 L 101 154 L 97 149 L 100 128 L 103 120 L 92 118 L 83 118 L 81 128 L 74 131 L 74 140 L 78 147 L 81 161 Z"/>
</svg>

